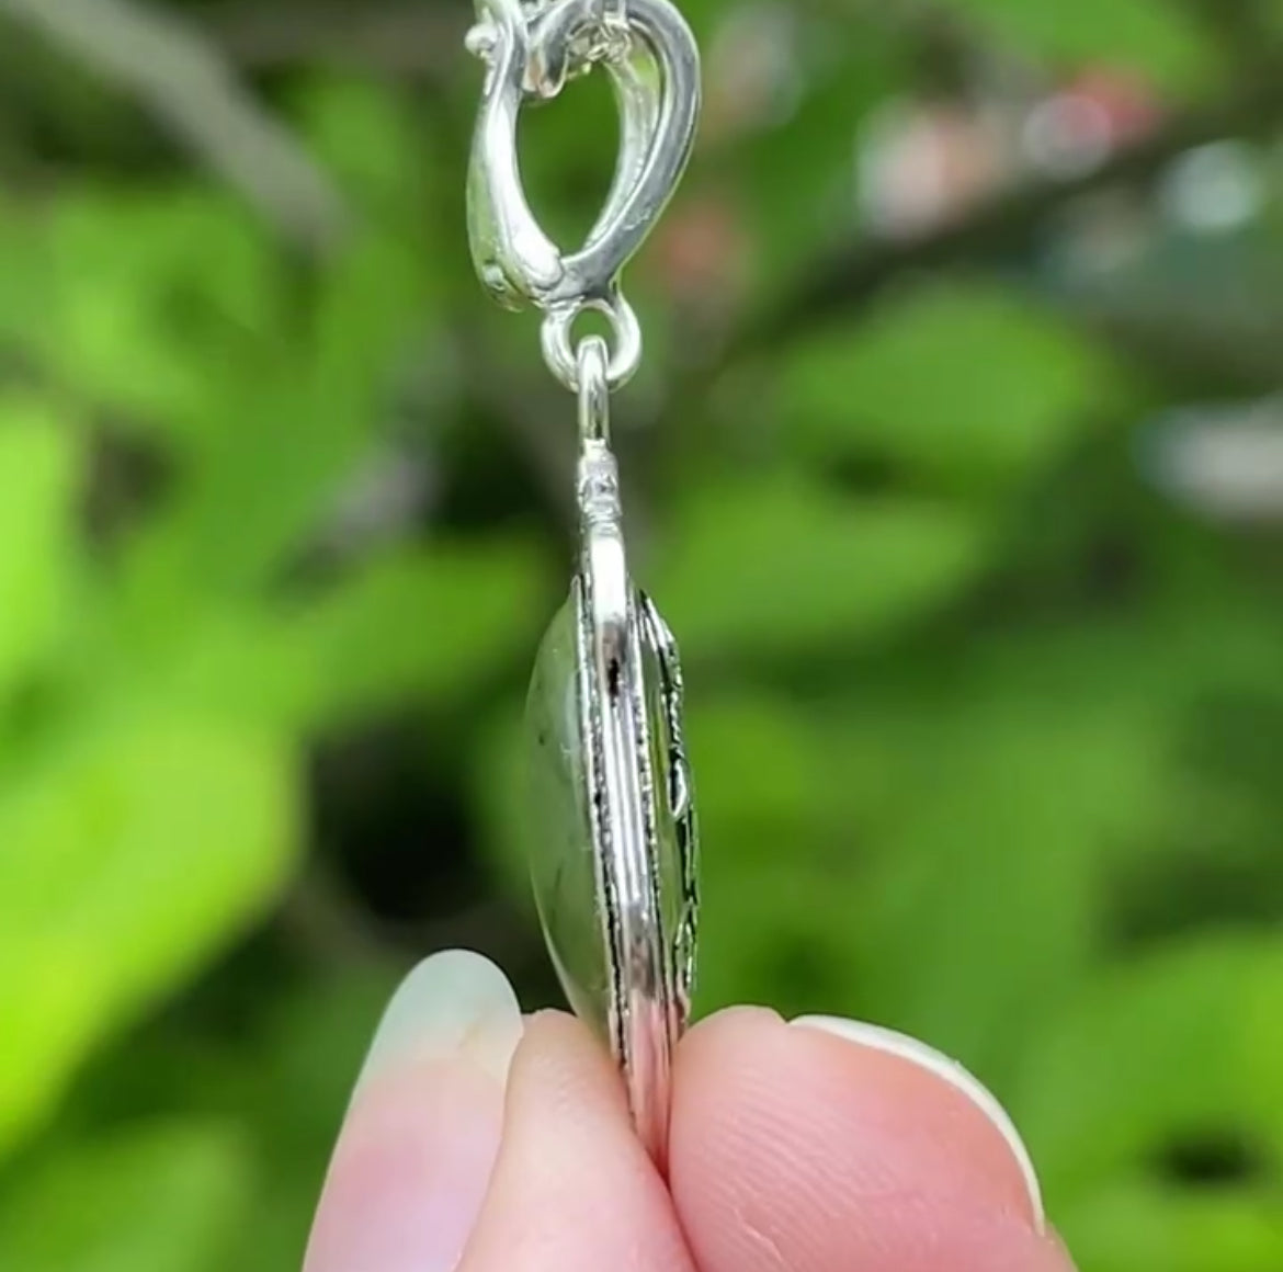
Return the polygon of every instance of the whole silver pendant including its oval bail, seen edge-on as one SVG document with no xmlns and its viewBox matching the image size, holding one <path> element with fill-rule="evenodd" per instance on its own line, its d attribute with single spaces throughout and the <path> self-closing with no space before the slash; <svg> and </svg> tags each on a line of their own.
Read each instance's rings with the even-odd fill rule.
<svg viewBox="0 0 1283 1272">
<path fill-rule="evenodd" d="M 667 1153 L 672 1051 L 694 978 L 697 839 L 672 635 L 633 581 L 609 394 L 642 335 L 620 271 L 685 168 L 699 108 L 694 39 L 670 0 L 477 0 L 468 45 L 489 64 L 468 177 L 477 272 L 500 303 L 544 312 L 553 375 L 579 398 L 579 561 L 527 702 L 531 870 L 548 949 L 575 1011 L 609 1044 L 638 1135 Z M 525 199 L 521 107 L 602 65 L 620 158 L 584 248 L 563 255 Z M 600 336 L 572 344 L 585 311 Z"/>
</svg>

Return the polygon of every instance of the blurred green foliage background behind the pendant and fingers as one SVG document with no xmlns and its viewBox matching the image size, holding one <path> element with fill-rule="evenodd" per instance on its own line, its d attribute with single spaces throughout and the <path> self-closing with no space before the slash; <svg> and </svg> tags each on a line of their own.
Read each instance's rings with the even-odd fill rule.
<svg viewBox="0 0 1283 1272">
<path fill-rule="evenodd" d="M 630 275 L 699 1008 L 1007 1101 L 1083 1272 L 1283 1268 L 1283 6 L 685 0 Z M 572 403 L 471 271 L 444 0 L 0 0 L 0 1268 L 299 1264 L 516 847 Z M 591 77 L 523 117 L 567 244 Z"/>
</svg>

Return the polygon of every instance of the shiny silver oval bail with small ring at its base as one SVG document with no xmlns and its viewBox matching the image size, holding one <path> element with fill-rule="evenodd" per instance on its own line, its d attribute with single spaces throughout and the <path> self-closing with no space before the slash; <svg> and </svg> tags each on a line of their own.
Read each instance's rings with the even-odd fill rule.
<svg viewBox="0 0 1283 1272">
<path fill-rule="evenodd" d="M 476 0 L 468 47 L 488 63 L 468 169 L 468 237 L 477 273 L 508 308 L 544 311 L 544 353 L 576 380 L 570 326 L 584 309 L 615 329 L 611 384 L 636 370 L 640 332 L 620 272 L 672 195 L 694 142 L 699 56 L 671 0 Z M 620 154 L 584 245 L 562 252 L 544 234 L 521 184 L 517 127 L 527 101 L 556 96 L 600 64 L 620 109 Z"/>
</svg>

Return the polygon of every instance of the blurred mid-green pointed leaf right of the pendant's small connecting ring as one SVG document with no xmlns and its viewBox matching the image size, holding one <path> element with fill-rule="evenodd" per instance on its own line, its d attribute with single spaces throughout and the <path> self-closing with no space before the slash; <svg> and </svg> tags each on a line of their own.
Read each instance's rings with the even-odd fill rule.
<svg viewBox="0 0 1283 1272">
<path fill-rule="evenodd" d="M 770 406 L 780 442 L 875 458 L 971 492 L 1025 480 L 1128 409 L 1117 365 L 994 284 L 931 284 L 790 353 Z"/>
</svg>

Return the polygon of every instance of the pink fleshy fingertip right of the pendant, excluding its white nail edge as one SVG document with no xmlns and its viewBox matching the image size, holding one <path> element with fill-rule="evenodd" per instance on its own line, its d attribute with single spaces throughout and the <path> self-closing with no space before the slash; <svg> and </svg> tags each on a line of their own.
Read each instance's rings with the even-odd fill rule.
<svg viewBox="0 0 1283 1272">
<path fill-rule="evenodd" d="M 988 1112 L 902 1049 L 774 1013 L 704 1020 L 676 1065 L 671 1185 L 706 1272 L 1064 1272 Z"/>
</svg>

